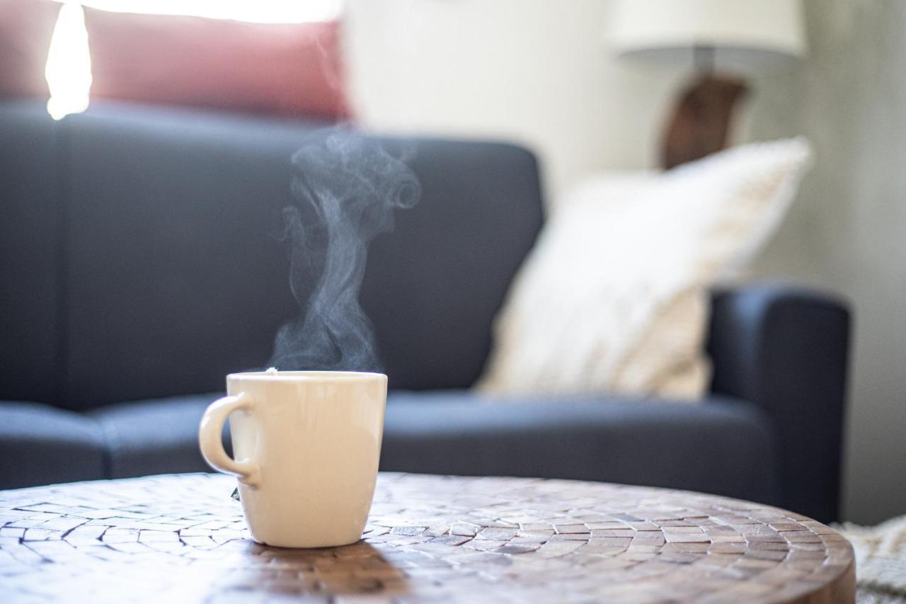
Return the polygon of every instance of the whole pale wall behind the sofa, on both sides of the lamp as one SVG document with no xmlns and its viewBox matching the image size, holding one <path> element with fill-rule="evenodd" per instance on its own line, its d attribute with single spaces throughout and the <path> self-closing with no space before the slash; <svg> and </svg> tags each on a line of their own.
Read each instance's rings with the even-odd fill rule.
<svg viewBox="0 0 906 604">
<path fill-rule="evenodd" d="M 855 312 L 844 514 L 906 512 L 906 2 L 806 0 L 810 50 L 759 77 L 740 135 L 804 133 L 814 170 L 757 262 Z M 682 73 L 618 60 L 609 0 L 349 0 L 352 93 L 387 132 L 516 141 L 550 199 L 595 170 L 656 161 Z"/>
</svg>

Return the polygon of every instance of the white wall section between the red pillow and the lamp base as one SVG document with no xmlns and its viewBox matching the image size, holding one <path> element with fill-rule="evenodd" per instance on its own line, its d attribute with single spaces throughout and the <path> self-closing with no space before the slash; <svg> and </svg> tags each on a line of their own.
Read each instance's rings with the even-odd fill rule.
<svg viewBox="0 0 906 604">
<path fill-rule="evenodd" d="M 670 72 L 617 61 L 602 0 L 349 0 L 362 122 L 532 148 L 557 191 L 651 164 Z"/>
</svg>

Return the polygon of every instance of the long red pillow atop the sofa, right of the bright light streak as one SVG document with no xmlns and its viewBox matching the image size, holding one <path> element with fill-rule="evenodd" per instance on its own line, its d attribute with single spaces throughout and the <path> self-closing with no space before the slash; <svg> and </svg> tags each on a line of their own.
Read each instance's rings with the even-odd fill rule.
<svg viewBox="0 0 906 604">
<path fill-rule="evenodd" d="M 347 117 L 339 24 L 253 24 L 85 7 L 92 98 Z"/>
</svg>

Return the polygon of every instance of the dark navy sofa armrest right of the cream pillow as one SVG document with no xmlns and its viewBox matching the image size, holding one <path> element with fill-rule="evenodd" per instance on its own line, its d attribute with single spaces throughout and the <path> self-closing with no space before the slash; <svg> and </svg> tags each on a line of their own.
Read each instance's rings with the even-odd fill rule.
<svg viewBox="0 0 906 604">
<path fill-rule="evenodd" d="M 745 399 L 774 421 L 783 505 L 837 520 L 850 313 L 802 287 L 716 292 L 708 353 L 711 391 Z"/>
</svg>

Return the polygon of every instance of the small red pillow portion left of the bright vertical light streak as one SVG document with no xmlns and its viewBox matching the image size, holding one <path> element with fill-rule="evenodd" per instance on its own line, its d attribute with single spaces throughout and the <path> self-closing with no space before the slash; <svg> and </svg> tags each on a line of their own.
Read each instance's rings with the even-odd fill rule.
<svg viewBox="0 0 906 604">
<path fill-rule="evenodd" d="M 59 14 L 49 0 L 0 0 L 0 94 L 50 96 L 44 66 Z"/>
</svg>

